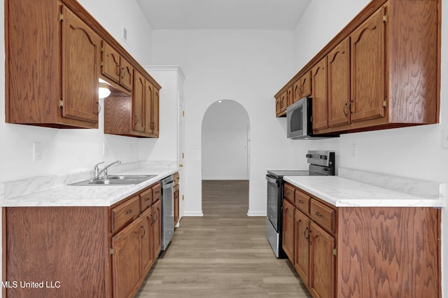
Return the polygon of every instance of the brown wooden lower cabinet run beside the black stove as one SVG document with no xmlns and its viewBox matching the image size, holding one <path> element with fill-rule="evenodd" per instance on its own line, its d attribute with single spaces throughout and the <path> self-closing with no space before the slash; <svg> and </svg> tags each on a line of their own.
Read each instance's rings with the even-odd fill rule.
<svg viewBox="0 0 448 298">
<path fill-rule="evenodd" d="M 307 213 L 283 200 L 283 250 L 312 297 L 441 297 L 440 209 L 309 196 Z"/>
</svg>

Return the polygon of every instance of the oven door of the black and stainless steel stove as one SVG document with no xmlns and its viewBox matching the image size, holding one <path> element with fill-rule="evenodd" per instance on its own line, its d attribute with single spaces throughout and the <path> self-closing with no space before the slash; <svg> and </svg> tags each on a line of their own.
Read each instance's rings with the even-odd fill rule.
<svg viewBox="0 0 448 298">
<path fill-rule="evenodd" d="M 267 218 L 276 232 L 280 232 L 282 181 L 267 175 Z"/>
</svg>

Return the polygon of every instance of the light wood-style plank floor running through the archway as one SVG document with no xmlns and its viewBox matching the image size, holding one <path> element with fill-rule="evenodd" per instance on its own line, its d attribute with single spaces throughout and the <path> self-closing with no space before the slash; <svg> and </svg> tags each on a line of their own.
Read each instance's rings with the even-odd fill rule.
<svg viewBox="0 0 448 298">
<path fill-rule="evenodd" d="M 136 297 L 310 297 L 272 252 L 266 218 L 247 216 L 247 180 L 204 180 L 202 211 L 182 218 Z"/>
</svg>

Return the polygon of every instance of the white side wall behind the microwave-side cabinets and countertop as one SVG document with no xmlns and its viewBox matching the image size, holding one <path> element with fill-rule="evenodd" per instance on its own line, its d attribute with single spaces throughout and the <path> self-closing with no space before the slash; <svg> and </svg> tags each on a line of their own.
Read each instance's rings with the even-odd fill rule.
<svg viewBox="0 0 448 298">
<path fill-rule="evenodd" d="M 311 1 L 295 29 L 297 71 L 314 57 L 369 1 Z M 334 148 L 337 166 L 448 183 L 448 149 L 442 149 L 442 129 L 448 129 L 448 2 L 442 1 L 442 67 L 440 124 L 344 134 L 339 139 L 297 141 L 293 146 Z M 322 20 L 325 20 L 323 22 Z M 302 28 L 307 28 L 303 30 Z M 304 46 L 306 45 L 306 46 Z M 358 155 L 353 157 L 353 144 Z M 448 297 L 448 211 L 442 208 L 443 297 Z"/>
</svg>

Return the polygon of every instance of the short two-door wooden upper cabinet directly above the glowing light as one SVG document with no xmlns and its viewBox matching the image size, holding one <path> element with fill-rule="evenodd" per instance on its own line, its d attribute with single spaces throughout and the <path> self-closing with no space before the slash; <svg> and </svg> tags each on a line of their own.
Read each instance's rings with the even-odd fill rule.
<svg viewBox="0 0 448 298">
<path fill-rule="evenodd" d="M 118 54 L 106 41 L 102 41 L 101 73 L 103 76 L 131 91 L 134 83 L 132 77 L 133 69 L 125 57 Z"/>
</svg>

